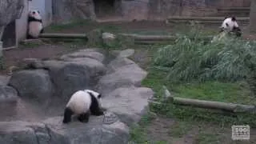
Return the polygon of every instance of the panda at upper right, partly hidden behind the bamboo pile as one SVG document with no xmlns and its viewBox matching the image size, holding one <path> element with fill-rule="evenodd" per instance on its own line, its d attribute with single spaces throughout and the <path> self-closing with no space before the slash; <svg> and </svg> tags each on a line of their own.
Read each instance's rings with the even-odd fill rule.
<svg viewBox="0 0 256 144">
<path fill-rule="evenodd" d="M 222 22 L 221 32 L 233 33 L 240 37 L 242 35 L 241 29 L 238 26 L 238 22 L 235 17 L 225 18 Z"/>
</svg>

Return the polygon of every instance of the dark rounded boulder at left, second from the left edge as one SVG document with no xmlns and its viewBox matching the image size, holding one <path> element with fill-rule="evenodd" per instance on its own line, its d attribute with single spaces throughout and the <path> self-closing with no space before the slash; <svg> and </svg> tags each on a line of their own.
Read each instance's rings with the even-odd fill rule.
<svg viewBox="0 0 256 144">
<path fill-rule="evenodd" d="M 23 98 L 49 100 L 54 87 L 47 70 L 21 70 L 10 78 L 9 86 Z"/>
</svg>

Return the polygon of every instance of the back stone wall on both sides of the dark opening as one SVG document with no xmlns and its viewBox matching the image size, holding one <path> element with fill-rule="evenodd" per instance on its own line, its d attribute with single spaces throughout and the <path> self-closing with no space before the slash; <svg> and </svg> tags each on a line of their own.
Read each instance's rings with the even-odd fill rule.
<svg viewBox="0 0 256 144">
<path fill-rule="evenodd" d="M 169 16 L 208 16 L 216 14 L 219 7 L 250 6 L 250 0 L 116 0 L 114 5 L 115 12 L 127 20 L 162 19 Z M 94 0 L 53 0 L 53 13 L 55 22 L 97 18 Z"/>
</svg>

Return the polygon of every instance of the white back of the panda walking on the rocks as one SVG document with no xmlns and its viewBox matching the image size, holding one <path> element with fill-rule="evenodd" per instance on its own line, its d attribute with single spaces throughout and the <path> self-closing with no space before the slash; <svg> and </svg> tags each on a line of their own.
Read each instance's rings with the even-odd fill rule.
<svg viewBox="0 0 256 144">
<path fill-rule="evenodd" d="M 74 111 L 74 114 L 82 114 L 86 113 L 90 109 L 90 103 L 90 94 L 85 91 L 78 90 L 71 96 L 66 107 L 70 107 L 70 109 Z"/>
</svg>

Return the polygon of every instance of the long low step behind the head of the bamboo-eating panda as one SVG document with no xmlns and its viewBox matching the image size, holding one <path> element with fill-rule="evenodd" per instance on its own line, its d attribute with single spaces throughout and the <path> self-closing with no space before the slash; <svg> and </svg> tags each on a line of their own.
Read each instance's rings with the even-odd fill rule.
<svg viewBox="0 0 256 144">
<path fill-rule="evenodd" d="M 221 25 L 223 17 L 170 17 L 167 18 L 168 22 L 185 22 L 197 21 L 202 24 L 218 24 Z M 247 25 L 249 23 L 249 17 L 237 17 L 238 23 L 240 25 Z"/>
</svg>

